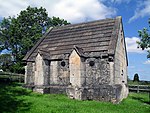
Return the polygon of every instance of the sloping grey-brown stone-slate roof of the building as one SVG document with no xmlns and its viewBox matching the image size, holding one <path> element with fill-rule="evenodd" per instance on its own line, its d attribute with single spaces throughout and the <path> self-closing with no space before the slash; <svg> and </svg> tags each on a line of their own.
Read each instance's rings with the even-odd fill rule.
<svg viewBox="0 0 150 113">
<path fill-rule="evenodd" d="M 121 17 L 51 28 L 27 53 L 24 61 L 34 61 L 38 50 L 49 55 L 70 54 L 75 46 L 84 53 L 114 54 Z M 83 54 L 84 54 L 83 53 Z"/>
</svg>

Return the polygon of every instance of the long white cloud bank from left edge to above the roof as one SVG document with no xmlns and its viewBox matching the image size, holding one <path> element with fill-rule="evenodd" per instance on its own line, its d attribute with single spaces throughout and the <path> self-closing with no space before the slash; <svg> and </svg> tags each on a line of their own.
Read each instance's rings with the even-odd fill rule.
<svg viewBox="0 0 150 113">
<path fill-rule="evenodd" d="M 71 23 L 109 18 L 116 9 L 99 0 L 0 0 L 0 17 L 19 14 L 27 6 L 44 7 L 49 16 L 58 16 Z"/>
</svg>

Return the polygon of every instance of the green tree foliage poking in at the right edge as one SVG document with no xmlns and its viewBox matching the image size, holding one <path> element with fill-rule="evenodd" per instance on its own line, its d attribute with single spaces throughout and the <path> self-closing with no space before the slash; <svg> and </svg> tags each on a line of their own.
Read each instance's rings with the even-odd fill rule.
<svg viewBox="0 0 150 113">
<path fill-rule="evenodd" d="M 150 27 L 150 19 L 149 19 L 149 27 Z M 141 40 L 137 41 L 137 43 L 138 47 L 142 48 L 142 50 L 150 48 L 150 33 L 148 31 L 149 30 L 147 28 L 143 28 L 143 30 L 138 31 Z M 148 52 L 147 58 L 150 58 L 150 50 L 148 50 L 147 52 Z"/>
</svg>

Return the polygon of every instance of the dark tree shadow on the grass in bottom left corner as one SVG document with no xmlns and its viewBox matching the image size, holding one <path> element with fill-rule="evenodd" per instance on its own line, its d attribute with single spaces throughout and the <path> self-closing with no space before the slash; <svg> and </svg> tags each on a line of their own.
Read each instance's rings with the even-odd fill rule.
<svg viewBox="0 0 150 113">
<path fill-rule="evenodd" d="M 27 111 L 31 103 L 26 102 L 21 96 L 29 95 L 31 92 L 23 89 L 20 84 L 10 81 L 0 80 L 0 113 L 15 113 Z"/>
</svg>

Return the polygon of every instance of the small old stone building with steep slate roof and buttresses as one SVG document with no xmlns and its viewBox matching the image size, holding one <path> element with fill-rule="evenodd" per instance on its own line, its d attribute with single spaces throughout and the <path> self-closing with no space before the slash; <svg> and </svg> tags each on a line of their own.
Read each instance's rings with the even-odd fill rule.
<svg viewBox="0 0 150 113">
<path fill-rule="evenodd" d="M 128 95 L 121 17 L 50 28 L 23 60 L 25 85 L 36 92 L 111 102 Z"/>
</svg>

